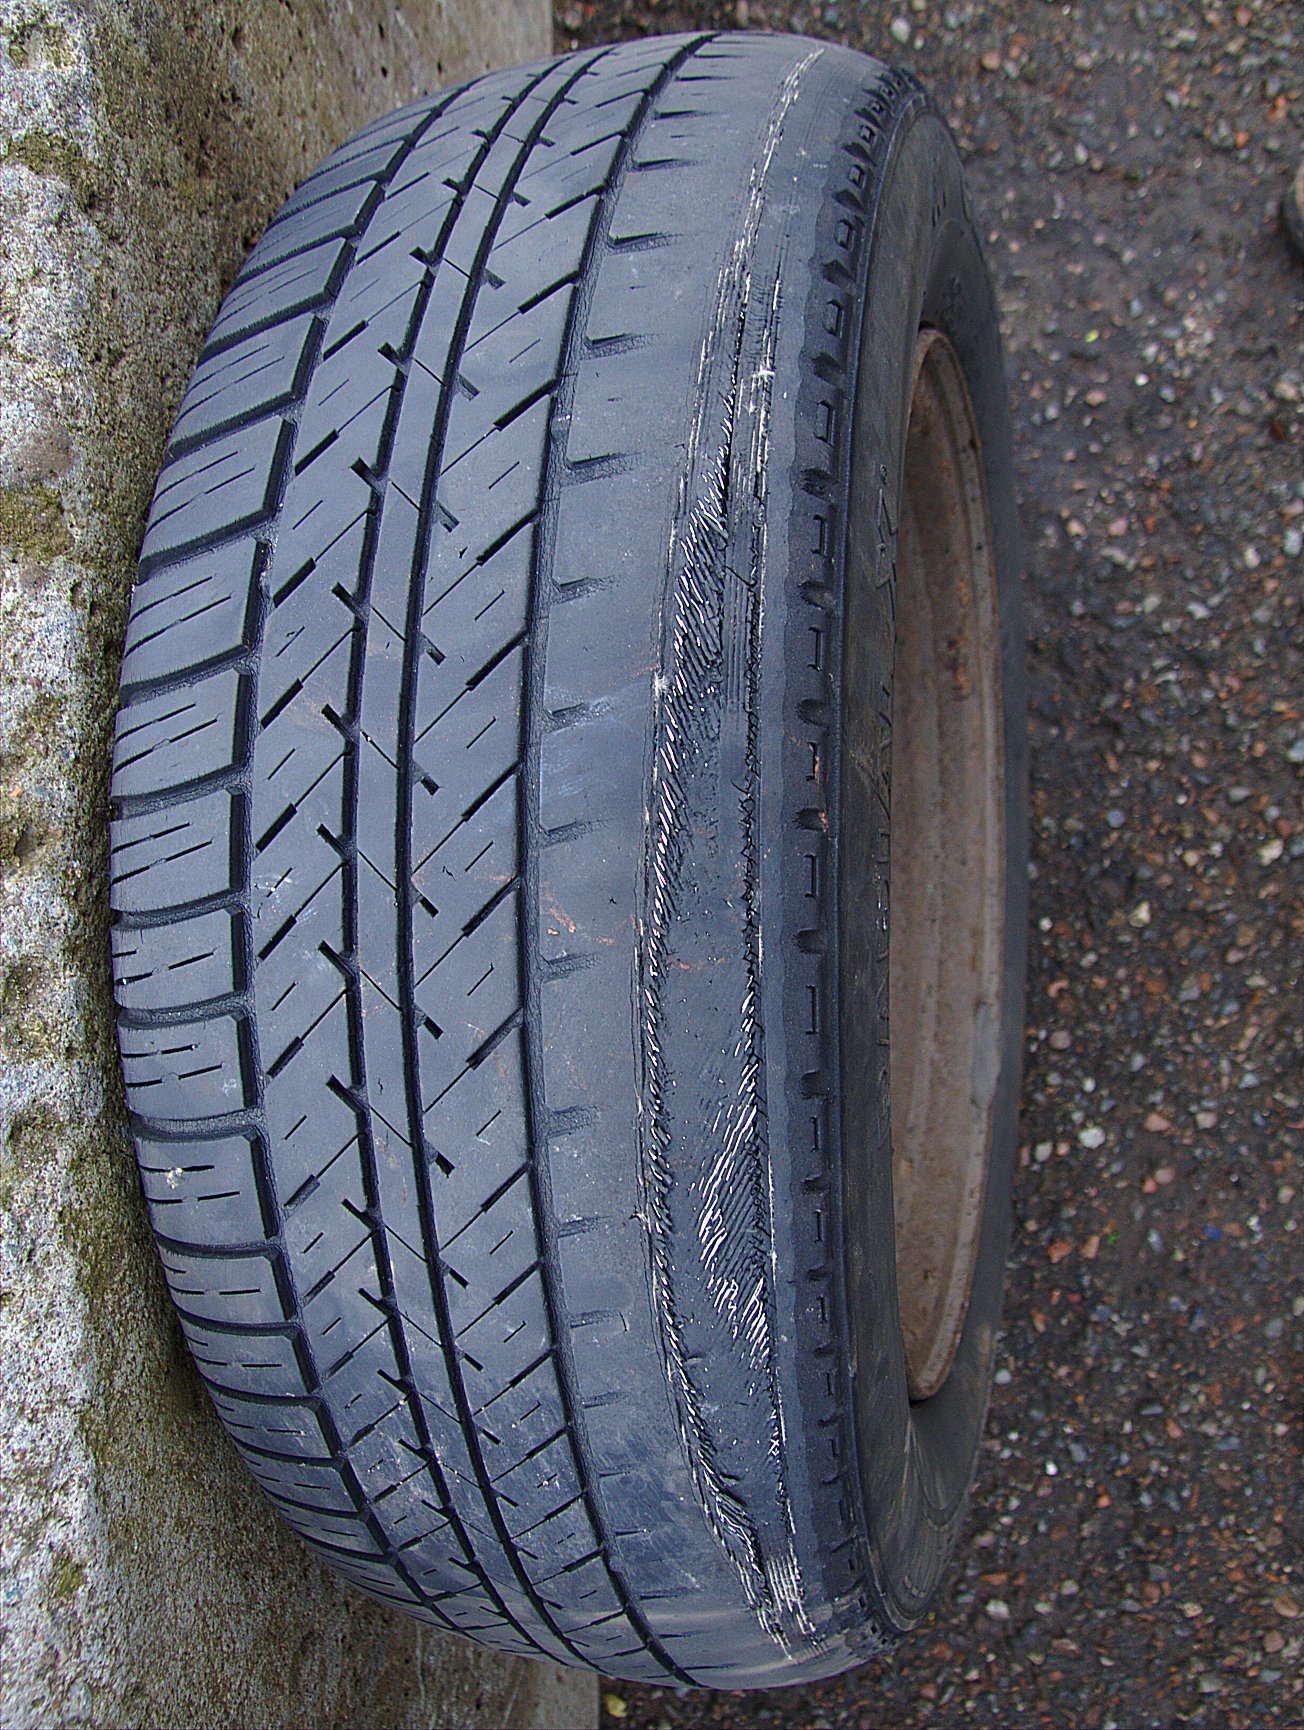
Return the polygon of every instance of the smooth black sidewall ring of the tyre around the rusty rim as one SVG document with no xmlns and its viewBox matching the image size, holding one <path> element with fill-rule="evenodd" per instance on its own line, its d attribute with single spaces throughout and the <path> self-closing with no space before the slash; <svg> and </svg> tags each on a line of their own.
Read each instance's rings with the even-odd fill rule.
<svg viewBox="0 0 1304 1730">
<path fill-rule="evenodd" d="M 946 1567 L 986 1419 L 1017 1147 L 1027 913 L 1022 561 L 1000 327 L 960 161 L 930 106 L 915 104 L 901 116 L 866 253 L 851 453 L 841 695 L 842 810 L 837 825 L 842 1201 L 861 1495 L 875 1585 L 889 1623 L 906 1630 L 922 1614 Z M 873 699 L 879 692 L 891 694 L 892 683 L 896 524 L 913 353 L 922 325 L 939 329 L 951 341 L 982 443 L 1003 661 L 1007 907 L 1001 1059 L 972 1296 L 951 1374 L 930 1400 L 911 1403 L 892 1225 L 885 965 L 889 837 L 882 804 L 866 798 L 863 785 L 854 789 L 847 772 L 866 754 L 885 765 L 885 742 L 891 739 L 889 728 L 877 720 Z M 891 561 L 891 571 L 884 571 L 884 559 Z M 865 929 L 866 917 L 877 931 Z M 866 1064 L 870 1028 L 875 1031 L 872 1048 L 877 1060 Z"/>
</svg>

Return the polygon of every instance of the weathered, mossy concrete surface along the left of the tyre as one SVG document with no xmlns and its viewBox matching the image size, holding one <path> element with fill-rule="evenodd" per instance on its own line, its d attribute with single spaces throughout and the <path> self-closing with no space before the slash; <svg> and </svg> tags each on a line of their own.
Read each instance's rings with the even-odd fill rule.
<svg viewBox="0 0 1304 1730">
<path fill-rule="evenodd" d="M 547 0 L 0 0 L 3 1697 L 29 1727 L 578 1725 L 591 1682 L 420 1633 L 259 1500 L 147 1239 L 105 784 L 131 564 L 202 334 L 294 182 Z"/>
</svg>

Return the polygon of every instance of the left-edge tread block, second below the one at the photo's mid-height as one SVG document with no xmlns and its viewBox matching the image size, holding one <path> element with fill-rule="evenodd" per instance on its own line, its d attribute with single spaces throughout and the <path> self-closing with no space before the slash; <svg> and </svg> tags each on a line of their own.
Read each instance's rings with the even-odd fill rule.
<svg viewBox="0 0 1304 1730">
<path fill-rule="evenodd" d="M 156 1121 L 220 1118 L 252 1104 L 244 1017 L 209 1016 L 118 1029 L 128 1109 Z"/>
</svg>

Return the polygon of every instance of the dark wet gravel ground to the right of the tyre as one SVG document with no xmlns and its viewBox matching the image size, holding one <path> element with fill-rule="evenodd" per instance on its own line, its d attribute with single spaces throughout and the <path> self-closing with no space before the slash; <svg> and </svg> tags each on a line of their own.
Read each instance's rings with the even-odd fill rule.
<svg viewBox="0 0 1304 1730">
<path fill-rule="evenodd" d="M 892 1663 L 604 1725 L 1304 1721 L 1304 14 L 564 0 L 911 66 L 1005 308 L 1029 564 L 1015 1247 L 970 1533 Z"/>
</svg>

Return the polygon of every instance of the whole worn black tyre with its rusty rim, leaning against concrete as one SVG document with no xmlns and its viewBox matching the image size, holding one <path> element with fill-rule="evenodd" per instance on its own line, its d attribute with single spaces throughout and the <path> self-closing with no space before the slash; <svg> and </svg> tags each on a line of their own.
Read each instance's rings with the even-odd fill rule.
<svg viewBox="0 0 1304 1730">
<path fill-rule="evenodd" d="M 254 247 L 131 599 L 119 1040 L 213 1401 L 370 1595 L 713 1687 L 924 1614 L 1007 1242 L 1017 583 L 958 157 L 877 61 L 493 74 Z"/>
</svg>

